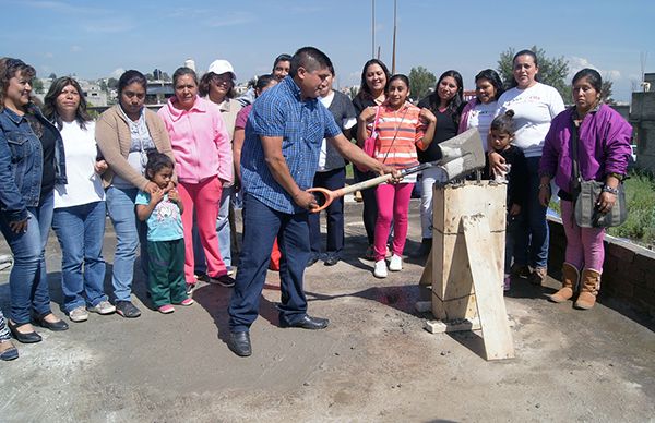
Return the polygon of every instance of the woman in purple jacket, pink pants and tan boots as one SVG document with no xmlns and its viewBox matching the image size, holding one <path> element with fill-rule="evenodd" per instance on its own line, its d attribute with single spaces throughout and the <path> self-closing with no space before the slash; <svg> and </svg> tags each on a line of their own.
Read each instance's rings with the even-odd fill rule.
<svg viewBox="0 0 655 423">
<path fill-rule="evenodd" d="M 593 69 L 583 69 L 573 76 L 575 106 L 552 120 L 539 166 L 539 202 L 544 207 L 548 205 L 550 180 L 555 178 L 567 234 L 562 288 L 550 300 L 556 303 L 569 300 L 580 282 L 575 307 L 583 310 L 594 306 L 600 289 L 605 227 L 594 225 L 597 221 L 580 213 L 581 204 L 576 202 L 583 200 L 579 195 L 581 185 L 588 181 L 603 183 L 594 213 L 608 215 L 617 210 L 621 206 L 617 204 L 617 194 L 626 178 L 632 135 L 632 126 L 600 104 L 602 85 L 600 74 Z"/>
</svg>

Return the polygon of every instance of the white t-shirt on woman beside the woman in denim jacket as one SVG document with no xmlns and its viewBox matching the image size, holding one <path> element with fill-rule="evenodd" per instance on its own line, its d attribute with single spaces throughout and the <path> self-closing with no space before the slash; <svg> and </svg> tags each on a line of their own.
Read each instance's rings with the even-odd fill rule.
<svg viewBox="0 0 655 423">
<path fill-rule="evenodd" d="M 55 208 L 104 201 L 103 181 L 94 170 L 97 156 L 95 122 L 87 122 L 85 130 L 78 122 L 63 122 L 60 132 L 68 183 L 55 185 Z"/>
</svg>

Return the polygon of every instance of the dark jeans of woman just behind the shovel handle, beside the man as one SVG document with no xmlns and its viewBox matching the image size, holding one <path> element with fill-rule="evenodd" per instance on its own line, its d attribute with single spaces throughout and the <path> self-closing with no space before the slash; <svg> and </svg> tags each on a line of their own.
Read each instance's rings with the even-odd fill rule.
<svg viewBox="0 0 655 423">
<path fill-rule="evenodd" d="M 346 184 L 346 168 L 338 168 L 325 172 L 317 172 L 314 186 L 338 190 Z M 327 215 L 327 249 L 329 256 L 341 258 L 344 249 L 344 197 L 338 197 L 325 209 Z M 311 254 L 319 257 L 321 254 L 321 214 L 309 214 L 309 234 Z"/>
</svg>

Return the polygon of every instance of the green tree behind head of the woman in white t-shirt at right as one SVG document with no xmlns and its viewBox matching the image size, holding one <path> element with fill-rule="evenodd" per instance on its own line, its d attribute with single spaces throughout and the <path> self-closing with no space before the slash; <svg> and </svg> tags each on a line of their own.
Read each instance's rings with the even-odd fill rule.
<svg viewBox="0 0 655 423">
<path fill-rule="evenodd" d="M 539 73 L 537 75 L 539 82 L 557 89 L 564 102 L 571 101 L 571 86 L 567 81 L 569 77 L 569 61 L 563 56 L 549 58 L 546 56 L 546 51 L 537 46 L 533 46 L 531 50 L 537 55 L 537 61 L 539 62 Z M 516 49 L 510 47 L 500 53 L 498 60 L 498 73 L 508 87 L 512 86 L 514 81 L 512 59 L 514 59 L 515 53 Z"/>
</svg>

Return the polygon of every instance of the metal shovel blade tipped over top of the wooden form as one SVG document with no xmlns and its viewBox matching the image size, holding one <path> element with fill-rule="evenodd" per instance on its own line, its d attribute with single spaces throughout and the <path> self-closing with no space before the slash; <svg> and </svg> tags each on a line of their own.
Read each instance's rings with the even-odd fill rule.
<svg viewBox="0 0 655 423">
<path fill-rule="evenodd" d="M 485 167 L 483 140 L 477 129 L 472 128 L 439 144 L 441 160 L 439 168 L 443 171 L 441 183 L 465 177 Z"/>
</svg>

